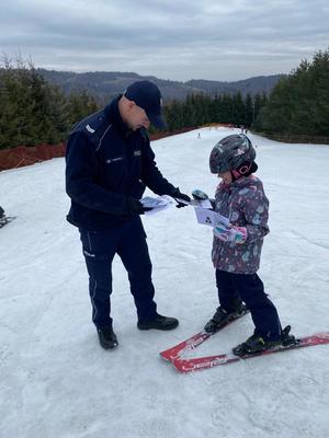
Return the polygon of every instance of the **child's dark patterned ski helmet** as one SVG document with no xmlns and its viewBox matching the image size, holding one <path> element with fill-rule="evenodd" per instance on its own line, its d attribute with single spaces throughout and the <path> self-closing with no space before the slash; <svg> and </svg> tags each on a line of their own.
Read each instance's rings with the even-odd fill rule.
<svg viewBox="0 0 329 438">
<path fill-rule="evenodd" d="M 212 173 L 223 173 L 239 168 L 243 162 L 252 162 L 256 150 L 245 134 L 235 134 L 223 138 L 214 146 L 209 166 Z"/>
</svg>

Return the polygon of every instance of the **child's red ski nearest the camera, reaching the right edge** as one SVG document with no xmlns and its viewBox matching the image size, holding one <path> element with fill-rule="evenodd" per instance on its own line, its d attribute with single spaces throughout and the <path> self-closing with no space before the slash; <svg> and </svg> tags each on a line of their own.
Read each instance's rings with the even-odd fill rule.
<svg viewBox="0 0 329 438">
<path fill-rule="evenodd" d="M 179 357 L 172 360 L 174 368 L 180 372 L 191 372 L 198 371 L 202 369 L 213 368 L 217 365 L 227 365 L 237 362 L 239 360 L 250 359 L 252 357 L 268 356 L 274 353 L 285 351 L 288 349 L 296 349 L 303 347 L 310 347 L 313 345 L 325 345 L 329 344 L 329 332 L 317 333 L 313 336 L 300 337 L 296 339 L 296 344 L 280 346 L 272 349 L 266 349 L 261 353 L 254 353 L 246 356 L 235 356 L 232 353 L 216 355 L 216 356 L 206 356 L 206 357 L 196 357 L 192 359 L 180 359 Z"/>
</svg>

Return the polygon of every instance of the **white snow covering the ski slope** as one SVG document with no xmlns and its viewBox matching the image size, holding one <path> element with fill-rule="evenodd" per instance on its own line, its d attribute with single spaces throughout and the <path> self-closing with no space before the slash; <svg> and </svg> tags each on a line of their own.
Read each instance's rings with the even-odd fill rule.
<svg viewBox="0 0 329 438">
<path fill-rule="evenodd" d="M 183 192 L 213 195 L 218 180 L 208 154 L 232 132 L 203 128 L 158 140 L 158 165 Z M 259 274 L 295 335 L 328 331 L 329 148 L 250 137 L 271 201 Z M 191 374 L 159 357 L 198 332 L 217 306 L 212 229 L 196 223 L 191 207 L 143 219 L 158 310 L 178 316 L 180 326 L 136 328 L 126 273 L 115 258 L 120 346 L 99 346 L 78 231 L 65 220 L 64 169 L 55 159 L 0 173 L 0 204 L 18 216 L 0 230 L 1 437 L 328 437 L 326 345 Z M 245 316 L 193 355 L 228 351 L 252 330 Z"/>
</svg>

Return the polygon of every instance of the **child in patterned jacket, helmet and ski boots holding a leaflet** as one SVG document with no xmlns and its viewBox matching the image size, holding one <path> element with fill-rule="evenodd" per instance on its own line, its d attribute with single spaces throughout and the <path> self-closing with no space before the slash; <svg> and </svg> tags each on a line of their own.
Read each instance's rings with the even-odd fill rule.
<svg viewBox="0 0 329 438">
<path fill-rule="evenodd" d="M 253 175 L 256 151 L 243 135 L 225 137 L 213 148 L 211 172 L 222 178 L 215 210 L 230 226 L 214 228 L 212 258 L 216 268 L 219 307 L 205 325 L 214 333 L 237 313 L 250 310 L 254 333 L 232 349 L 238 356 L 294 343 L 290 326 L 282 330 L 277 311 L 257 275 L 263 238 L 269 233 L 269 200 L 261 181 Z M 246 303 L 246 306 L 243 304 Z"/>
</svg>

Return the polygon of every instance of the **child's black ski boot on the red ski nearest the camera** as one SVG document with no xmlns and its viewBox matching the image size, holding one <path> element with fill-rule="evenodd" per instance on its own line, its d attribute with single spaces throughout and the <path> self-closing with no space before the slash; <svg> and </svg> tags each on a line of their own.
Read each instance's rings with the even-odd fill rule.
<svg viewBox="0 0 329 438">
<path fill-rule="evenodd" d="M 276 347 L 294 345 L 297 343 L 295 336 L 290 335 L 291 326 L 287 325 L 281 332 L 281 336 L 279 339 L 266 339 L 260 335 L 253 334 L 248 337 L 246 342 L 232 348 L 232 353 L 236 356 L 248 356 L 257 353 L 264 351 L 266 349 L 275 349 Z"/>
</svg>

